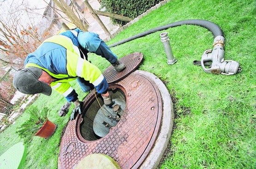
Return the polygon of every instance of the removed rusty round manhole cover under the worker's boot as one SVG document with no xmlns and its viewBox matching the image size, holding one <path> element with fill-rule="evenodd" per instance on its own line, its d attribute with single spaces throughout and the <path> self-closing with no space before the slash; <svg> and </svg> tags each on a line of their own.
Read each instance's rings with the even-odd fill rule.
<svg viewBox="0 0 256 169">
<path fill-rule="evenodd" d="M 140 52 L 134 52 L 129 55 L 126 55 L 119 59 L 120 61 L 124 62 L 126 65 L 126 68 L 118 72 L 114 69 L 112 65 L 110 65 L 102 74 L 107 79 L 107 83 L 115 83 L 121 79 L 124 79 L 126 76 L 128 76 L 130 73 L 132 73 L 134 70 L 136 70 L 140 63 L 143 61 L 143 54 Z"/>
</svg>

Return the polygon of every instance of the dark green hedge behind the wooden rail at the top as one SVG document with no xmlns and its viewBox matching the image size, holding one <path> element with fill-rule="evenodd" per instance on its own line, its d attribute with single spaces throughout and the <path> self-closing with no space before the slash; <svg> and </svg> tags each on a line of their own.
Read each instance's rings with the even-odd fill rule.
<svg viewBox="0 0 256 169">
<path fill-rule="evenodd" d="M 105 7 L 107 12 L 136 18 L 143 12 L 158 4 L 161 0 L 102 0 L 101 7 Z M 114 24 L 125 25 L 127 22 L 112 19 Z"/>
</svg>

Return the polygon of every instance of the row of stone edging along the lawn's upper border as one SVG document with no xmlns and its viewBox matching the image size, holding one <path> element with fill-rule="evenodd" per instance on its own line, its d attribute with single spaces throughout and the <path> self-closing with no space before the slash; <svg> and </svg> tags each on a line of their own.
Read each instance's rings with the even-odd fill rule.
<svg viewBox="0 0 256 169">
<path fill-rule="evenodd" d="M 109 41 L 110 39 L 113 39 L 117 34 L 119 34 L 120 32 L 123 32 L 126 28 L 130 27 L 133 23 L 136 23 L 137 21 L 139 21 L 142 17 L 145 17 L 146 15 L 148 15 L 151 11 L 155 11 L 156 9 L 158 9 L 161 6 L 164 6 L 165 4 L 167 4 L 167 2 L 169 2 L 171 0 L 163 0 L 161 1 L 159 4 L 156 4 L 155 6 L 151 7 L 149 10 L 145 11 L 143 14 L 139 15 L 138 17 L 134 18 L 131 22 L 126 23 L 124 26 L 122 26 L 121 28 L 119 28 L 116 32 L 114 32 L 113 34 L 111 34 L 110 36 L 108 36 L 106 39 L 104 39 L 104 42 Z"/>
</svg>

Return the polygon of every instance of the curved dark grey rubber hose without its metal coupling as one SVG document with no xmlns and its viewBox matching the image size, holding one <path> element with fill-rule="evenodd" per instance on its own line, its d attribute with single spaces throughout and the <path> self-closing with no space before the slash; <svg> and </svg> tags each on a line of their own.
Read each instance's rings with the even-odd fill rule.
<svg viewBox="0 0 256 169">
<path fill-rule="evenodd" d="M 136 34 L 136 35 L 134 35 L 130 38 L 127 38 L 127 39 L 121 40 L 117 43 L 114 43 L 112 45 L 109 45 L 109 47 L 114 47 L 114 46 L 117 46 L 117 45 L 121 45 L 121 44 L 129 42 L 131 40 L 146 36 L 148 34 L 152 34 L 152 33 L 155 33 L 157 31 L 165 30 L 165 29 L 168 29 L 168 28 L 177 27 L 177 26 L 180 26 L 180 25 L 198 25 L 198 26 L 201 26 L 203 28 L 207 28 L 209 31 L 211 31 L 212 34 L 214 35 L 214 38 L 216 36 L 219 36 L 219 35 L 223 36 L 222 30 L 215 23 L 212 23 L 212 22 L 206 21 L 206 20 L 192 19 L 192 20 L 179 21 L 179 22 L 176 22 L 176 23 L 170 23 L 170 24 L 167 24 L 167 25 L 164 25 L 164 26 L 160 26 L 160 27 L 157 27 L 157 28 L 150 29 L 150 30 L 145 31 L 143 33 Z"/>
</svg>

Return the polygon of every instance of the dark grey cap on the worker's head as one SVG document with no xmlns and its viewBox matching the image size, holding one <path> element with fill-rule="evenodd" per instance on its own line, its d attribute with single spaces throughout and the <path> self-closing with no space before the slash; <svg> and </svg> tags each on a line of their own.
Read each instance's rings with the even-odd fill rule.
<svg viewBox="0 0 256 169">
<path fill-rule="evenodd" d="M 21 93 L 28 95 L 42 93 L 50 96 L 52 88 L 48 84 L 38 80 L 41 75 L 42 69 L 40 68 L 23 68 L 14 74 L 12 83 L 15 89 Z"/>
</svg>

